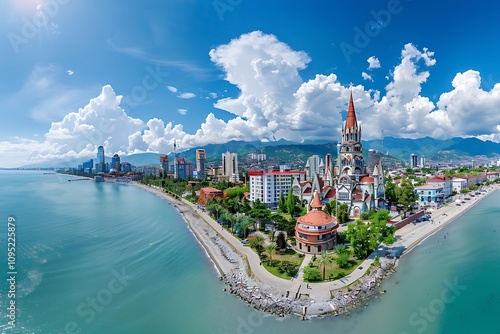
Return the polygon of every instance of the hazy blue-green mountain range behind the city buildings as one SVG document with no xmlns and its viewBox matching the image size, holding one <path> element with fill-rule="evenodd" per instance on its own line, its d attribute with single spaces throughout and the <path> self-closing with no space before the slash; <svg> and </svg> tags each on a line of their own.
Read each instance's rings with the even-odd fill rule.
<svg viewBox="0 0 500 334">
<path fill-rule="evenodd" d="M 307 141 L 304 143 L 294 143 L 286 140 L 273 142 L 244 142 L 230 141 L 225 144 L 208 144 L 199 147 L 205 150 L 207 162 L 220 163 L 222 153 L 234 152 L 243 157 L 249 153 L 265 153 L 268 160 L 278 163 L 302 162 L 311 155 L 317 154 L 323 157 L 330 153 L 332 157 L 337 156 L 337 143 L 325 141 Z M 195 161 L 196 149 L 189 149 L 179 152 L 188 161 Z M 476 138 L 460 138 L 441 140 L 430 137 L 410 139 L 385 137 L 376 140 L 363 141 L 363 152 L 374 149 L 381 152 L 387 159 L 395 163 L 407 162 L 412 153 L 417 154 L 419 159 L 424 157 L 427 161 L 433 162 L 454 162 L 471 163 L 475 160 L 478 163 L 485 163 L 500 158 L 500 143 L 492 141 L 482 141 Z M 171 152 L 170 152 L 171 153 Z M 134 166 L 159 164 L 159 153 L 139 153 L 121 157 L 121 161 L 130 162 Z M 241 159 L 241 158 L 240 158 Z M 111 158 L 107 158 L 111 160 Z M 386 158 L 384 158 L 384 161 Z M 46 168 L 46 167 L 76 167 L 84 160 L 52 160 L 43 163 L 35 163 L 21 168 Z M 299 163 L 300 164 L 300 163 Z"/>
</svg>

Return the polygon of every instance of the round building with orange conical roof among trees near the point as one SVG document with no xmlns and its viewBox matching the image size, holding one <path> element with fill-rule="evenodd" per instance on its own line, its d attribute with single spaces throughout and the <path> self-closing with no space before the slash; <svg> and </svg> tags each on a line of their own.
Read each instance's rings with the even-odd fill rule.
<svg viewBox="0 0 500 334">
<path fill-rule="evenodd" d="M 311 210 L 297 219 L 295 240 L 297 250 L 316 254 L 333 249 L 337 241 L 338 223 L 335 217 L 322 210 L 319 193 L 314 193 Z"/>
</svg>

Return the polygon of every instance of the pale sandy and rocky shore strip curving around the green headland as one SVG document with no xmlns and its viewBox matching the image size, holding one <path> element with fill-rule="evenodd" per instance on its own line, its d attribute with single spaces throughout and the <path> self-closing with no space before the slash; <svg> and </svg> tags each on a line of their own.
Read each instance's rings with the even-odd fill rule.
<svg viewBox="0 0 500 334">
<path fill-rule="evenodd" d="M 176 199 L 157 187 L 138 183 L 133 185 L 155 193 L 177 208 L 213 261 L 229 292 L 237 294 L 259 310 L 279 316 L 303 315 L 306 308 L 307 315 L 350 312 L 359 306 L 362 300 L 379 293 L 377 287 L 395 271 L 401 255 L 497 189 L 492 186 L 486 193 L 472 197 L 460 206 L 452 202 L 434 210 L 429 221 L 401 228 L 396 232 L 397 241 L 393 245 L 379 247 L 357 269 L 341 280 L 306 284 L 300 276 L 298 279 L 284 280 L 269 273 L 260 265 L 258 255 L 250 247 L 244 246 L 208 214 L 198 210 L 195 204 Z M 381 267 L 366 275 L 376 256 L 380 257 Z M 307 258 L 304 259 L 302 266 L 307 265 L 307 262 Z"/>
</svg>

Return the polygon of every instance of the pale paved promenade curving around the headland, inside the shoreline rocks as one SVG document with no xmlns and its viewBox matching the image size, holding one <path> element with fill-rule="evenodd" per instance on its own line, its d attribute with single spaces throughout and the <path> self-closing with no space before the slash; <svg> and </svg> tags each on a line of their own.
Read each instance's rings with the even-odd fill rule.
<svg viewBox="0 0 500 334">
<path fill-rule="evenodd" d="M 491 186 L 488 188 L 488 191 L 486 193 L 477 195 L 471 198 L 471 200 L 465 201 L 465 203 L 462 203 L 460 206 L 452 202 L 446 206 L 434 210 L 431 214 L 431 219 L 428 221 L 408 224 L 407 226 L 401 228 L 400 230 L 396 231 L 396 242 L 393 245 L 381 245 L 365 261 L 363 261 L 358 266 L 358 268 L 356 268 L 351 274 L 342 279 L 322 283 L 305 283 L 303 282 L 302 275 L 300 274 L 298 275 L 297 279 L 292 278 L 291 280 L 285 280 L 269 273 L 261 265 L 261 261 L 255 251 L 253 251 L 249 246 L 243 245 L 238 238 L 224 229 L 206 212 L 199 210 L 196 204 L 190 203 L 184 199 L 176 199 L 163 192 L 161 188 L 157 188 L 154 186 L 145 186 L 139 183 L 133 183 L 133 185 L 161 196 L 178 208 L 197 239 L 203 245 L 212 261 L 215 263 L 221 275 L 230 274 L 236 268 L 234 261 L 231 262 L 228 259 L 233 258 L 233 256 L 240 256 L 246 261 L 247 265 L 249 266 L 251 276 L 254 280 L 260 282 L 268 288 L 272 288 L 277 293 L 300 293 L 302 295 L 309 296 L 315 302 L 328 301 L 329 299 L 331 299 L 332 290 L 345 288 L 362 278 L 372 265 L 376 256 L 379 256 L 381 258 L 392 258 L 399 257 L 400 255 L 405 254 L 413 247 L 418 245 L 422 240 L 432 235 L 446 224 L 453 221 L 460 214 L 469 210 L 482 198 L 488 196 L 490 193 L 497 189 L 496 185 Z M 210 228 L 215 231 L 218 236 L 220 236 L 220 241 L 222 241 L 222 243 L 224 243 L 228 247 L 226 251 L 231 249 L 236 254 L 231 254 L 230 256 L 228 256 L 228 254 L 225 254 L 223 251 L 221 251 L 220 241 L 214 241 L 214 237 L 210 238 L 207 231 L 203 232 L 203 224 L 205 226 L 210 226 Z M 304 263 L 302 264 L 301 269 L 307 265 L 307 263 L 305 263 L 306 259 L 307 257 L 304 259 Z M 324 303 L 320 304 L 324 305 Z"/>
</svg>

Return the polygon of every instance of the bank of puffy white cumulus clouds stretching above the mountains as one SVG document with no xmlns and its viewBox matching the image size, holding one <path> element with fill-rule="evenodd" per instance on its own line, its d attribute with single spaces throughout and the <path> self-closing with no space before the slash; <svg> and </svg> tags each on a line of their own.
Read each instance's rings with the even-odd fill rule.
<svg viewBox="0 0 500 334">
<path fill-rule="evenodd" d="M 109 154 L 168 153 L 174 140 L 183 149 L 230 140 L 336 142 L 351 92 L 363 139 L 380 138 L 384 130 L 394 137 L 478 136 L 500 141 L 500 84 L 485 91 L 479 72 L 457 73 L 453 89 L 434 103 L 421 94 L 436 64 L 434 53 L 411 43 L 401 50 L 401 61 L 390 70 L 384 92 L 342 84 L 333 73 L 303 80 L 299 72 L 311 61 L 309 56 L 260 31 L 218 46 L 210 58 L 240 90 L 237 97 L 214 103 L 233 114 L 232 119 L 210 113 L 197 131 L 186 133 L 182 124 L 128 116 L 120 106 L 121 96 L 104 86 L 85 107 L 53 122 L 44 141 L 17 138 L 2 143 L 0 153 L 26 150 L 32 161 L 40 161 L 94 157 L 99 145 Z M 187 113 L 187 109 L 177 111 Z"/>
</svg>

